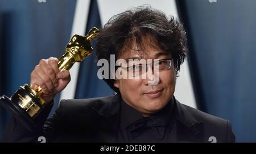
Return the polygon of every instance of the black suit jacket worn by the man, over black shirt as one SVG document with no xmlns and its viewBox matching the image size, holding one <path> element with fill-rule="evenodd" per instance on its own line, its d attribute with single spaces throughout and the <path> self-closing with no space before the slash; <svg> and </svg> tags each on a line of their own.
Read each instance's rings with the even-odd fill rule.
<svg viewBox="0 0 256 154">
<path fill-rule="evenodd" d="M 50 141 L 115 142 L 119 126 L 121 95 L 90 99 L 67 99 L 60 102 L 52 118 L 46 119 L 48 107 L 29 131 L 11 118 L 3 142 Z M 217 118 L 179 103 L 174 98 L 175 122 L 170 142 L 234 142 L 229 120 Z"/>
</svg>

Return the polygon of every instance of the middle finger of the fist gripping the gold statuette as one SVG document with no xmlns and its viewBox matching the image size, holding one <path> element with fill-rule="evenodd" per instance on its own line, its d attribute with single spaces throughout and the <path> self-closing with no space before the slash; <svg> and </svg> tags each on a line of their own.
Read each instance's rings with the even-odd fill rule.
<svg viewBox="0 0 256 154">
<path fill-rule="evenodd" d="M 54 87 L 57 87 L 58 86 L 58 81 L 57 81 L 57 78 L 56 78 L 56 73 L 55 73 L 55 70 L 52 68 L 52 66 L 50 64 L 48 64 L 48 60 L 43 60 L 43 61 L 40 61 L 40 66 L 41 68 L 43 69 L 44 73 L 49 77 L 51 78 L 51 82 L 53 84 Z"/>
</svg>

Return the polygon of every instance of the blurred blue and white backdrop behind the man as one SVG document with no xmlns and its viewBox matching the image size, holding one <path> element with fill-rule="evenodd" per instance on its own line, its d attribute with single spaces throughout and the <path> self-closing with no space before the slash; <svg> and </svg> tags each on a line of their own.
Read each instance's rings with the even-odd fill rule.
<svg viewBox="0 0 256 154">
<path fill-rule="evenodd" d="M 187 31 L 189 53 L 177 79 L 177 99 L 229 119 L 236 141 L 256 142 L 254 0 L 1 0 L 0 96 L 11 97 L 30 84 L 39 60 L 63 55 L 73 34 L 85 35 L 111 16 L 144 4 L 174 15 Z M 114 94 L 98 79 L 95 57 L 73 66 L 71 84 L 55 102 Z M 0 106 L 0 137 L 9 118 Z"/>
</svg>

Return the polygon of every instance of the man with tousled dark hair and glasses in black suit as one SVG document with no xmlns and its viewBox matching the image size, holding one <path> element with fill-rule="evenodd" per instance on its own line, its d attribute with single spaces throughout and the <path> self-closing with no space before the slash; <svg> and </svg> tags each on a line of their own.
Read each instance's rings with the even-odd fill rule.
<svg viewBox="0 0 256 154">
<path fill-rule="evenodd" d="M 31 73 L 31 85 L 43 89 L 47 110 L 33 131 L 12 118 L 2 141 L 37 141 L 44 136 L 47 142 L 233 142 L 228 120 L 192 109 L 174 97 L 186 44 L 181 24 L 158 10 L 143 6 L 113 16 L 98 35 L 98 60 L 110 64 L 110 55 L 115 55 L 146 63 L 118 63 L 115 72 L 127 78 L 117 77 L 111 69 L 104 78 L 117 94 L 62 100 L 52 118 L 46 119 L 53 98 L 71 79 L 68 71 L 59 72 L 56 58 L 40 60 Z"/>
</svg>

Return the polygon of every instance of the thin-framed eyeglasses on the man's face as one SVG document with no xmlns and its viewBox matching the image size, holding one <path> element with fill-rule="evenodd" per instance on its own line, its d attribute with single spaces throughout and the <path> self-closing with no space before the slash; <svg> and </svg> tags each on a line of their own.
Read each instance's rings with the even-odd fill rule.
<svg viewBox="0 0 256 154">
<path fill-rule="evenodd" d="M 172 66 L 172 59 L 161 59 L 161 60 L 155 60 L 152 63 L 147 64 L 135 64 L 131 66 L 119 66 L 119 68 L 122 68 L 123 70 L 126 70 L 129 76 L 142 76 L 142 74 L 146 73 L 148 71 L 148 68 L 151 68 L 151 70 L 158 71 L 164 71 L 170 69 Z"/>
</svg>

